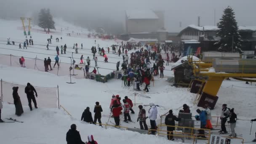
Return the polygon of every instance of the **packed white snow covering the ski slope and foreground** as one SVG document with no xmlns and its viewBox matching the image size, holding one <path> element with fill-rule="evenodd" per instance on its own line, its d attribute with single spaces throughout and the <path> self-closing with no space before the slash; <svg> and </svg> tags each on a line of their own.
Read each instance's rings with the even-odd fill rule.
<svg viewBox="0 0 256 144">
<path fill-rule="evenodd" d="M 61 23 L 61 22 L 60 22 Z M 0 20 L 0 30 L 2 40 L 7 40 L 7 37 L 11 37 L 11 41 L 24 41 L 24 35 L 22 30 L 17 30 L 17 27 L 20 27 L 20 21 L 4 21 Z M 55 43 L 56 37 L 63 38 L 62 42 L 60 43 L 64 45 L 66 43 L 69 47 L 71 47 L 74 43 L 78 43 L 80 45 L 83 42 L 84 48 L 88 48 L 90 50 L 91 46 L 94 45 L 94 39 L 88 39 L 87 34 L 86 37 L 67 37 L 65 32 L 60 32 L 60 27 L 57 25 L 57 32 L 56 35 L 53 35 L 53 44 Z M 64 27 L 64 26 L 63 26 Z M 39 29 L 39 28 L 38 28 Z M 79 28 L 77 28 L 79 29 Z M 7 32 L 8 31 L 8 32 Z M 72 31 L 69 29 L 69 31 Z M 29 48 L 27 50 L 22 51 L 14 51 L 18 50 L 18 46 L 13 45 L 6 45 L 0 44 L 1 49 L 0 54 L 13 54 L 16 56 L 27 56 L 30 58 L 40 57 L 43 59 L 46 57 L 44 54 L 35 54 L 35 53 L 27 53 L 24 51 L 31 51 L 31 52 L 39 52 L 39 53 L 47 53 L 56 55 L 56 51 L 46 51 L 46 47 L 42 45 L 46 45 L 46 39 L 50 37 L 48 34 L 44 33 L 37 33 L 37 31 L 33 31 L 32 28 L 32 38 L 38 48 L 44 48 L 42 50 Z M 86 30 L 83 30 L 86 32 Z M 2 42 L 1 42 L 2 43 Z M 58 45 L 60 45 L 58 43 Z M 97 42 L 100 45 L 110 46 L 115 43 L 114 40 L 100 40 L 97 39 Z M 17 44 L 17 43 L 16 43 Z M 34 45 L 35 46 L 35 45 Z M 105 47 L 104 46 L 104 47 Z M 55 47 L 51 49 L 55 50 Z M 106 49 L 105 49 L 106 50 Z M 68 51 L 72 52 L 73 49 L 69 48 Z M 80 51 L 80 50 L 79 50 Z M 91 51 L 91 50 L 90 50 Z M 91 54 L 90 51 L 86 51 L 88 55 Z M 76 58 L 80 58 L 80 53 L 75 55 Z M 102 63 L 100 67 L 106 67 L 109 69 L 115 69 L 115 63 L 117 61 L 121 61 L 122 59 L 118 59 L 118 55 L 109 54 L 108 56 L 112 56 L 113 58 L 109 61 L 112 61 L 113 64 Z M 62 55 L 61 55 L 62 56 Z M 69 53 L 70 56 L 70 53 Z M 84 55 L 84 57 L 87 55 Z M 98 55 L 99 56 L 99 55 Z M 47 56 L 48 57 L 48 56 Z M 51 57 L 53 59 L 53 57 Z M 99 57 L 98 57 L 99 59 Z M 103 59 L 103 58 L 102 58 Z M 69 62 L 69 58 L 61 57 L 61 61 Z M 76 60 L 79 62 L 79 60 Z M 98 62 L 98 64 L 100 64 Z M 171 65 L 166 67 L 166 69 L 171 69 Z M 109 73 L 112 70 L 102 69 L 102 73 Z M 165 71 L 165 75 L 173 75 L 171 71 Z M 6 144 L 29 144 L 29 143 L 36 143 L 36 144 L 63 144 L 66 143 L 65 136 L 66 133 L 72 123 L 77 125 L 78 130 L 80 131 L 81 137 L 83 141 L 87 141 L 87 135 L 92 134 L 96 141 L 99 144 L 110 144 L 110 143 L 122 143 L 122 144 L 138 144 L 138 143 L 145 143 L 148 144 L 176 144 L 181 143 L 175 141 L 168 141 L 166 136 L 152 136 L 152 135 L 144 135 L 139 134 L 132 131 L 120 131 L 116 128 L 109 127 L 107 130 L 101 128 L 99 126 L 91 125 L 80 121 L 80 117 L 82 115 L 83 110 L 86 107 L 90 107 L 91 112 L 93 113 L 93 108 L 96 101 L 99 101 L 101 107 L 103 108 L 102 115 L 109 115 L 109 103 L 112 94 L 119 94 L 120 97 L 123 99 L 124 96 L 128 96 L 132 101 L 136 101 L 136 103 L 143 103 L 149 104 L 151 102 L 158 104 L 162 107 L 158 107 L 158 114 L 162 115 L 168 112 L 169 109 L 176 109 L 174 110 L 174 114 L 178 115 L 179 107 L 183 104 L 188 104 L 190 106 L 191 112 L 193 115 L 196 115 L 195 110 L 198 108 L 194 106 L 192 103 L 195 99 L 195 94 L 189 93 L 187 88 L 175 88 L 167 83 L 166 78 L 160 79 L 159 77 L 155 77 L 155 83 L 151 82 L 149 93 L 139 92 L 140 95 L 147 95 L 151 98 L 145 98 L 141 96 L 134 97 L 135 91 L 133 87 L 131 88 L 122 88 L 121 87 L 121 80 L 109 80 L 107 83 L 99 83 L 94 80 L 88 79 L 75 79 L 73 78 L 72 81 L 76 82 L 75 84 L 67 84 L 66 82 L 69 81 L 69 76 L 56 76 L 52 73 L 47 72 L 40 72 L 34 69 L 27 69 L 21 67 L 10 67 L 8 65 L 0 65 L 0 78 L 3 78 L 4 81 L 9 83 L 15 83 L 20 85 L 26 85 L 27 82 L 30 82 L 32 85 L 40 86 L 40 87 L 54 87 L 59 85 L 59 92 L 60 92 L 60 104 L 67 109 L 67 111 L 72 115 L 69 117 L 65 114 L 62 110 L 59 109 L 48 109 L 48 108 L 40 108 L 33 109 L 30 112 L 29 107 L 27 107 L 27 103 L 23 103 L 24 114 L 21 117 L 17 117 L 15 114 L 15 108 L 12 104 L 7 104 L 6 102 L 3 103 L 3 110 L 2 110 L 2 117 L 4 118 L 13 117 L 17 120 L 24 121 L 24 123 L 1 123 L 0 128 L 0 136 L 1 142 Z M 232 87 L 233 85 L 233 87 Z M 237 87 L 239 86 L 239 87 Z M 250 88 L 244 88 L 250 87 Z M 255 118 L 255 114 L 253 110 L 256 108 L 254 101 L 255 101 L 255 83 L 253 85 L 246 85 L 245 82 L 240 81 L 224 81 L 221 89 L 218 93 L 219 101 L 216 104 L 215 109 L 212 111 L 212 116 L 219 116 L 221 112 L 221 105 L 223 103 L 228 104 L 228 107 L 235 108 L 235 112 L 237 113 L 238 118 L 250 120 L 251 118 Z M 19 89 L 19 93 L 24 93 L 23 89 Z M 12 93 L 12 91 L 10 91 Z M 40 97 L 40 93 L 38 93 Z M 135 99 L 134 99 L 135 98 Z M 38 99 L 37 99 L 38 100 Z M 144 107 L 146 111 L 148 111 L 149 107 Z M 131 119 L 136 122 L 137 115 L 139 112 L 138 104 L 133 107 L 135 114 L 131 114 Z M 123 116 L 120 116 L 121 120 Z M 106 123 L 108 117 L 102 117 L 102 123 Z M 114 122 L 113 118 L 110 119 Z M 213 120 L 213 123 L 216 120 Z M 162 121 L 163 122 L 163 121 Z M 160 117 L 157 117 L 157 124 L 160 123 Z M 127 126 L 130 128 L 137 127 L 139 128 L 139 123 L 123 123 L 121 121 L 122 126 Z M 149 120 L 147 119 L 147 124 L 149 125 Z M 254 138 L 254 132 L 256 131 L 256 125 L 253 124 L 252 128 L 252 135 L 250 133 L 251 123 L 250 121 L 237 121 L 237 128 L 236 132 L 238 134 L 243 134 L 243 138 L 246 141 L 250 141 Z M 164 128 L 165 129 L 165 128 Z M 229 129 L 229 128 L 227 128 Z M 3 131 L 4 130 L 4 131 Z M 145 141 L 145 139 L 147 139 Z M 192 141 L 185 140 L 186 143 L 192 143 Z M 199 144 L 203 144 L 205 141 L 199 140 Z"/>
</svg>

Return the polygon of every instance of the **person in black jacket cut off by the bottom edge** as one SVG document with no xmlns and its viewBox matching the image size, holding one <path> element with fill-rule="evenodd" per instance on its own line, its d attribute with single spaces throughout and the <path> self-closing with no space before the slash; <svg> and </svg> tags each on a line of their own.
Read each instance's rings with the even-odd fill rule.
<svg viewBox="0 0 256 144">
<path fill-rule="evenodd" d="M 71 129 L 69 129 L 66 135 L 67 144 L 85 144 L 81 139 L 79 131 L 77 131 L 77 126 L 72 124 L 70 127 Z"/>
</svg>

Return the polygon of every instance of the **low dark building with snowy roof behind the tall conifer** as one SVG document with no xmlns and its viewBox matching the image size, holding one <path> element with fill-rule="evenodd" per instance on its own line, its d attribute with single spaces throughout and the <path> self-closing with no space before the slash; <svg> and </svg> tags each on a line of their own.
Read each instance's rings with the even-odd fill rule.
<svg viewBox="0 0 256 144">
<path fill-rule="evenodd" d="M 199 27 L 196 25 L 189 25 L 179 32 L 181 37 L 182 50 L 187 51 L 189 49 L 192 53 L 197 51 L 200 47 L 201 51 L 216 51 L 219 45 L 215 43 L 220 40 L 220 37 L 216 37 L 216 32 L 219 28 L 216 26 L 204 26 Z M 242 50 L 254 51 L 256 46 L 256 27 L 239 27 L 239 33 L 242 37 Z"/>
</svg>

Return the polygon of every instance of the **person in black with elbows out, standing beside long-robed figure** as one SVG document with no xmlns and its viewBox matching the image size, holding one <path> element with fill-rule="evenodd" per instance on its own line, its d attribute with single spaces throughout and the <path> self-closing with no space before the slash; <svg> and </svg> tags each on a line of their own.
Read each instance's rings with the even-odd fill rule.
<svg viewBox="0 0 256 144">
<path fill-rule="evenodd" d="M 34 95 L 34 92 L 35 92 L 35 95 Z M 37 91 L 30 83 L 27 83 L 27 86 L 25 88 L 25 93 L 27 94 L 27 100 L 29 101 L 30 111 L 32 111 L 31 100 L 33 101 L 35 108 L 37 109 L 37 101 L 35 99 L 35 96 L 37 97 Z"/>
</svg>

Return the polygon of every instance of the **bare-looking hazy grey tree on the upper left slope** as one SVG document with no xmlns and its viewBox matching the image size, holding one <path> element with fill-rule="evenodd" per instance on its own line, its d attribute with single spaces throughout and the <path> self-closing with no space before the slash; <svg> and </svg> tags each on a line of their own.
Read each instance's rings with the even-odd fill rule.
<svg viewBox="0 0 256 144">
<path fill-rule="evenodd" d="M 53 21 L 53 16 L 50 13 L 50 9 L 41 9 L 39 13 L 39 23 L 38 26 L 43 29 L 48 29 L 48 33 L 50 29 L 55 29 L 55 22 Z M 46 30 L 45 30 L 46 31 Z"/>
</svg>

